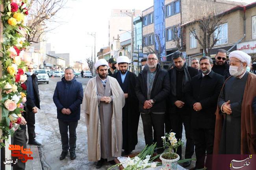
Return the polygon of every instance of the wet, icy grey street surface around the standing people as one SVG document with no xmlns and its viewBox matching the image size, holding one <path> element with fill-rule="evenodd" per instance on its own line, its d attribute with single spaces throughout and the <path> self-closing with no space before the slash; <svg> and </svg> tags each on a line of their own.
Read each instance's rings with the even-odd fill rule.
<svg viewBox="0 0 256 170">
<path fill-rule="evenodd" d="M 54 77 L 49 79 L 49 84 L 39 83 L 39 93 L 41 100 L 41 110 L 36 114 L 36 140 L 42 143 L 39 147 L 41 156 L 41 163 L 43 170 L 96 170 L 95 162 L 89 162 L 87 157 L 87 131 L 85 126 L 85 116 L 81 114 L 80 121 L 76 129 L 76 159 L 70 160 L 70 155 L 60 161 L 61 154 L 61 136 L 59 133 L 58 119 L 56 113 L 56 106 L 52 100 L 56 83 L 61 80 L 61 77 Z M 89 78 L 78 78 L 79 82 L 83 84 L 83 89 Z M 183 132 L 183 139 L 185 133 Z M 185 145 L 184 145 L 185 146 Z M 145 140 L 143 134 L 143 125 L 141 119 L 138 128 L 138 144 L 134 152 L 141 151 L 145 147 Z M 184 155 L 184 153 L 183 153 Z M 195 164 L 193 163 L 193 166 Z M 111 165 L 106 163 L 100 170 L 105 170 Z M 193 167 L 192 165 L 190 167 Z"/>
</svg>

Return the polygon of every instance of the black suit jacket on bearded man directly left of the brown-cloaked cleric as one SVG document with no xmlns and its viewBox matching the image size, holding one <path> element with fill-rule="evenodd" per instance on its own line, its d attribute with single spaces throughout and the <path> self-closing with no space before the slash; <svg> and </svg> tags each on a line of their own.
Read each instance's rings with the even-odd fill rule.
<svg viewBox="0 0 256 170">
<path fill-rule="evenodd" d="M 187 102 L 192 110 L 192 128 L 213 129 L 215 127 L 215 111 L 223 83 L 224 77 L 213 71 L 204 77 L 198 74 L 192 78 L 186 94 Z M 196 102 L 202 105 L 202 110 L 198 112 L 193 109 L 193 104 Z"/>
</svg>

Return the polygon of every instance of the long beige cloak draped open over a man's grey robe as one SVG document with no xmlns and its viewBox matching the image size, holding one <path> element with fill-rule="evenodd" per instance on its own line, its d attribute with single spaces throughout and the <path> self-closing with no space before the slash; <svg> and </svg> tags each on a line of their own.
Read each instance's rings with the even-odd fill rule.
<svg viewBox="0 0 256 170">
<path fill-rule="evenodd" d="M 111 118 L 111 154 L 121 156 L 122 152 L 122 108 L 124 93 L 117 80 L 108 76 L 113 95 L 113 115 Z M 82 112 L 85 112 L 87 126 L 88 160 L 100 160 L 100 119 L 98 112 L 96 77 L 89 80 L 83 95 Z"/>
</svg>

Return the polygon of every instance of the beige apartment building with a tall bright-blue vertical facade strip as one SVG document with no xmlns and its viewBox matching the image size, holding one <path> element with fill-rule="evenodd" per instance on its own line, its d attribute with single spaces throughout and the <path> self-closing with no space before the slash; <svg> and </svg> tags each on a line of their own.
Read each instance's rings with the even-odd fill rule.
<svg viewBox="0 0 256 170">
<path fill-rule="evenodd" d="M 243 4 L 226 0 L 154 0 L 154 6 L 142 11 L 143 53 L 154 49 L 161 54 L 162 62 L 170 62 L 170 54 L 178 50 L 176 33 L 186 52 L 186 30 L 181 31 L 180 25 L 202 17 L 205 9 L 221 13 L 237 5 Z"/>
</svg>

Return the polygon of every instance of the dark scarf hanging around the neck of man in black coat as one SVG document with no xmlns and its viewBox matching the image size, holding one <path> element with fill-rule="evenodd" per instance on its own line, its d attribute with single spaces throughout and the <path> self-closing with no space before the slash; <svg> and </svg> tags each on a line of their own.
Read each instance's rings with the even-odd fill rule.
<svg viewBox="0 0 256 170">
<path fill-rule="evenodd" d="M 176 70 L 177 71 L 184 71 L 184 76 L 182 80 L 182 93 L 185 93 L 186 85 L 191 81 L 189 72 L 187 70 L 187 64 L 184 63 L 182 68 L 176 68 L 174 66 L 173 71 L 171 73 L 171 92 L 174 96 L 176 96 Z"/>
</svg>

